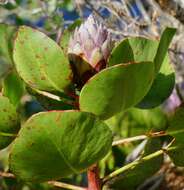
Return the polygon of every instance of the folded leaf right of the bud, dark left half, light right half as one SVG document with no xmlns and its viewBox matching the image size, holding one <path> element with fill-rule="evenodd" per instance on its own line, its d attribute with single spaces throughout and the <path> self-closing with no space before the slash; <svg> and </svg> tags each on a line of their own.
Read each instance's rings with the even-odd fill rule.
<svg viewBox="0 0 184 190">
<path fill-rule="evenodd" d="M 127 38 L 113 48 L 109 66 L 128 62 L 154 61 L 158 42 L 142 37 Z"/>
</svg>

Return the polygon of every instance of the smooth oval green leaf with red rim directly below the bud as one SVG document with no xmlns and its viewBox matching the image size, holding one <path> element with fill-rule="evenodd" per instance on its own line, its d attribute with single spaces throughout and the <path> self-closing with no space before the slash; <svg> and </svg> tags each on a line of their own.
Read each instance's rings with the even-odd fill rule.
<svg viewBox="0 0 184 190">
<path fill-rule="evenodd" d="M 102 70 L 82 88 L 80 109 L 102 119 L 136 105 L 148 92 L 154 78 L 154 64 L 119 64 Z"/>
</svg>

